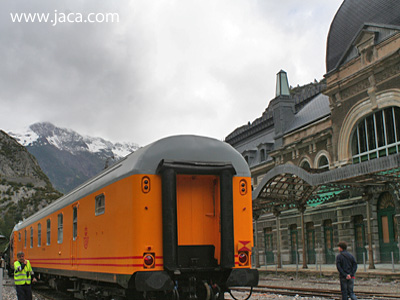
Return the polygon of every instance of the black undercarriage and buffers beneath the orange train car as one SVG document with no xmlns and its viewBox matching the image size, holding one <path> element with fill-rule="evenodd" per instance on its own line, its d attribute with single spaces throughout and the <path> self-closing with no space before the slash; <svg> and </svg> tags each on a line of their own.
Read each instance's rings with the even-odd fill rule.
<svg viewBox="0 0 400 300">
<path fill-rule="evenodd" d="M 258 273 L 251 269 L 176 271 L 175 274 L 165 271 L 137 272 L 129 280 L 127 288 L 77 277 L 48 274 L 40 274 L 39 277 L 51 288 L 85 300 L 222 300 L 231 287 L 256 286 L 258 283 Z"/>
</svg>

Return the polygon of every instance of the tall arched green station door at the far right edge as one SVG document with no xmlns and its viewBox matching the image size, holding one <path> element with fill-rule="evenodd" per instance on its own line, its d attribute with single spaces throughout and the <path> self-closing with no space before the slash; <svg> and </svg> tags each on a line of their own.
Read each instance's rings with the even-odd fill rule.
<svg viewBox="0 0 400 300">
<path fill-rule="evenodd" d="M 378 227 L 381 262 L 391 262 L 392 252 L 394 260 L 399 259 L 397 247 L 397 219 L 393 197 L 389 193 L 381 195 L 378 201 Z"/>
</svg>

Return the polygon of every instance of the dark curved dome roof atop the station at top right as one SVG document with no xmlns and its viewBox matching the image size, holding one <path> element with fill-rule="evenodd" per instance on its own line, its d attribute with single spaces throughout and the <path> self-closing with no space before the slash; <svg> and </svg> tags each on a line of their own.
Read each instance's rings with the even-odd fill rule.
<svg viewBox="0 0 400 300">
<path fill-rule="evenodd" d="M 344 0 L 329 29 L 326 72 L 338 67 L 349 44 L 364 24 L 400 25 L 399 0 Z"/>
</svg>

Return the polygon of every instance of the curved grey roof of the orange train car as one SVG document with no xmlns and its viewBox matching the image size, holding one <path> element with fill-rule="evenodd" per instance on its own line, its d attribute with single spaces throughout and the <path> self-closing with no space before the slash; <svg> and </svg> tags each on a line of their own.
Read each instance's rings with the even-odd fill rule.
<svg viewBox="0 0 400 300">
<path fill-rule="evenodd" d="M 161 160 L 180 162 L 230 163 L 236 176 L 250 176 L 249 167 L 231 145 L 207 137 L 178 135 L 158 140 L 134 153 L 122 161 L 104 170 L 70 193 L 43 208 L 33 216 L 16 225 L 15 229 L 28 226 L 47 214 L 66 207 L 78 199 L 96 192 L 104 186 L 134 174 L 156 174 Z"/>
</svg>

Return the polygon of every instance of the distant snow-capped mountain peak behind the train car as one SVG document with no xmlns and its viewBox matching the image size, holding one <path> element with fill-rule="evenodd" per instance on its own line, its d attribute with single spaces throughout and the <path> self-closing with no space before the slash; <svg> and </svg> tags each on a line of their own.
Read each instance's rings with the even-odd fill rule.
<svg viewBox="0 0 400 300">
<path fill-rule="evenodd" d="M 52 184 L 64 193 L 139 148 L 135 143 L 82 136 L 47 122 L 9 135 L 36 157 Z"/>
</svg>

